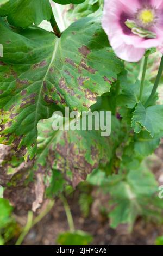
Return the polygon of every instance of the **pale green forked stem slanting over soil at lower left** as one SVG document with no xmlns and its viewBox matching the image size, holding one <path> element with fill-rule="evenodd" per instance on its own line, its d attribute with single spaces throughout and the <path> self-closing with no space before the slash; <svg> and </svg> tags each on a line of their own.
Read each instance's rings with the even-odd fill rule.
<svg viewBox="0 0 163 256">
<path fill-rule="evenodd" d="M 32 229 L 35 224 L 37 224 L 39 221 L 41 221 L 42 218 L 45 217 L 48 214 L 48 212 L 52 209 L 53 205 L 54 205 L 54 201 L 50 200 L 48 205 L 47 205 L 47 208 L 44 211 L 42 211 L 36 218 L 34 218 L 34 220 L 33 220 L 33 212 L 32 211 L 28 212 L 27 224 L 23 228 L 23 231 L 22 231 L 20 237 L 18 237 L 18 240 L 15 243 L 15 245 L 21 245 L 22 244 L 24 238 L 29 233 L 29 230 Z"/>
</svg>

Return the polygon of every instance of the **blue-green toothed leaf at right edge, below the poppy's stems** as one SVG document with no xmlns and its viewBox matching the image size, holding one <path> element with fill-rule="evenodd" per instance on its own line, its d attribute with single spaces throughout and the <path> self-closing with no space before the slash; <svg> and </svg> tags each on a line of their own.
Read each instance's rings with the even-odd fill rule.
<svg viewBox="0 0 163 256">
<path fill-rule="evenodd" d="M 136 133 L 142 128 L 148 131 L 151 137 L 163 131 L 163 105 L 155 105 L 145 108 L 141 102 L 135 108 L 131 123 Z"/>
</svg>

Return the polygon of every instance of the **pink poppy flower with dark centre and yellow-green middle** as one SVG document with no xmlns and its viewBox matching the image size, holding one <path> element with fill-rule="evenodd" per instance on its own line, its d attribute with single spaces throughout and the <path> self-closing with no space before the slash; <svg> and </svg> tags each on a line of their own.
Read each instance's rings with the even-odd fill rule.
<svg viewBox="0 0 163 256">
<path fill-rule="evenodd" d="M 102 26 L 117 56 L 137 62 L 163 42 L 163 0 L 105 0 Z"/>
</svg>

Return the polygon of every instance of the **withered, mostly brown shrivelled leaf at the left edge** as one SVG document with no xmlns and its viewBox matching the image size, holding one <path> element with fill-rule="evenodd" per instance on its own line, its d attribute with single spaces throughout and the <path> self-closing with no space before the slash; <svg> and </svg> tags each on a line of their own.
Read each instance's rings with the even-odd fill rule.
<svg viewBox="0 0 163 256">
<path fill-rule="evenodd" d="M 33 181 L 29 179 L 33 162 L 24 162 L 11 147 L 0 144 L 0 185 L 5 188 L 4 198 L 17 210 L 36 211 L 43 202 L 43 173 L 35 172 Z"/>
</svg>

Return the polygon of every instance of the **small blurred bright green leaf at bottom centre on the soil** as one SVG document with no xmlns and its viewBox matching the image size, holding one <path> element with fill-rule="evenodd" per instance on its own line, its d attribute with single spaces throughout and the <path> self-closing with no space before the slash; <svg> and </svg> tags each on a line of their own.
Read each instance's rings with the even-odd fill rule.
<svg viewBox="0 0 163 256">
<path fill-rule="evenodd" d="M 57 243 L 59 245 L 90 245 L 92 240 L 93 237 L 90 234 L 82 230 L 76 230 L 60 234 L 57 238 Z"/>
</svg>

